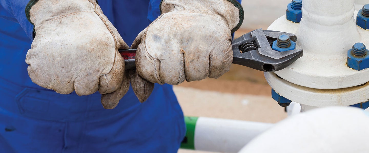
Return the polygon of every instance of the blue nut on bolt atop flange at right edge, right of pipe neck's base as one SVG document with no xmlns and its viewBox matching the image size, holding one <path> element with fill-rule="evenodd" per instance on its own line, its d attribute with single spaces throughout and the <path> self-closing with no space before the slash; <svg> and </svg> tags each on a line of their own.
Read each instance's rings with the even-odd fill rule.
<svg viewBox="0 0 369 153">
<path fill-rule="evenodd" d="M 369 68 L 369 51 L 363 43 L 355 43 L 347 51 L 347 67 L 355 70 Z"/>
</svg>

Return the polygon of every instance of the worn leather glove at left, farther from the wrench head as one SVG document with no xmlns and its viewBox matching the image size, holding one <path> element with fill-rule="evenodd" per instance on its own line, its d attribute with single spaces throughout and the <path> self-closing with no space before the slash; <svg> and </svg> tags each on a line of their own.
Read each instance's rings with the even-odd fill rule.
<svg viewBox="0 0 369 153">
<path fill-rule="evenodd" d="M 147 81 L 125 71 L 118 49 L 129 46 L 95 0 L 31 0 L 26 15 L 34 24 L 35 37 L 25 60 L 34 83 L 60 94 L 99 91 L 106 109 L 114 108 L 128 91 L 129 75 L 137 83 L 134 90 L 140 101 L 151 94 L 153 84 L 139 91 Z"/>
</svg>

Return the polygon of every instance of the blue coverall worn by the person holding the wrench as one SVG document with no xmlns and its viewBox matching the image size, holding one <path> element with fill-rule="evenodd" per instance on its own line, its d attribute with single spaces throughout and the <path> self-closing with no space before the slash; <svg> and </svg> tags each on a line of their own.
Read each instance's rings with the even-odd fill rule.
<svg viewBox="0 0 369 153">
<path fill-rule="evenodd" d="M 177 152 L 185 134 L 182 110 L 171 85 L 155 84 L 140 103 L 132 89 L 106 110 L 95 93 L 62 95 L 34 84 L 25 55 L 32 43 L 29 0 L 0 0 L 1 153 Z M 160 15 L 161 0 L 98 0 L 130 45 Z"/>
</svg>

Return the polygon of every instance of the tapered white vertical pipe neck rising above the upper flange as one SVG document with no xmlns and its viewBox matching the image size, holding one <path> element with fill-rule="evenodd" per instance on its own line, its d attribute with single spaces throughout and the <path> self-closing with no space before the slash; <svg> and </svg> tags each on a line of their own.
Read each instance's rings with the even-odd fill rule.
<svg viewBox="0 0 369 153">
<path fill-rule="evenodd" d="M 296 35 L 304 54 L 347 57 L 347 50 L 360 42 L 353 0 L 305 0 L 302 12 Z"/>
</svg>

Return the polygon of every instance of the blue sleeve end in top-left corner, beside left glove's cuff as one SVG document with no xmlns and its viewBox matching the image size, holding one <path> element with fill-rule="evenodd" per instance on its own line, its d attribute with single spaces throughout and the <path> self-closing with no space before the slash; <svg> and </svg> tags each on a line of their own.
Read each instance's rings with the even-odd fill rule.
<svg viewBox="0 0 369 153">
<path fill-rule="evenodd" d="M 0 18 L 4 18 L 21 25 L 27 36 L 33 40 L 34 26 L 25 16 L 25 6 L 30 0 L 0 0 Z"/>
</svg>

